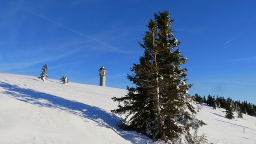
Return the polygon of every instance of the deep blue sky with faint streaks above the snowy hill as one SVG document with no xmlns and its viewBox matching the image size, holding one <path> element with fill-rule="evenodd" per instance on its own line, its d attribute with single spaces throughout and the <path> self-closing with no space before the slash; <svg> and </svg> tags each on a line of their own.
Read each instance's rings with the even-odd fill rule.
<svg viewBox="0 0 256 144">
<path fill-rule="evenodd" d="M 172 28 L 189 59 L 190 94 L 256 103 L 256 1 L 1 1 L 0 73 L 126 88 L 154 12 L 169 10 Z"/>
</svg>

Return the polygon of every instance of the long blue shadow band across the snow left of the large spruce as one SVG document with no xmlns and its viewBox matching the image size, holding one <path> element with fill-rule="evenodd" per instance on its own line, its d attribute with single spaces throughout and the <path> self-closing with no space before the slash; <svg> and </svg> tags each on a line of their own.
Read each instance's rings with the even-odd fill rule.
<svg viewBox="0 0 256 144">
<path fill-rule="evenodd" d="M 143 141 L 140 139 L 141 134 L 138 134 L 135 131 L 124 131 L 118 128 L 117 125 L 121 124 L 121 118 L 112 113 L 108 113 L 99 107 L 79 103 L 78 101 L 67 100 L 55 95 L 34 91 L 33 89 L 20 88 L 17 85 L 10 85 L 4 82 L 0 82 L 0 86 L 7 90 L 2 92 L 3 94 L 10 95 L 17 100 L 35 104 L 37 106 L 66 110 L 74 115 L 90 119 L 96 122 L 100 127 L 111 128 L 121 137 L 132 143 L 142 143 Z M 144 138 L 145 137 L 146 136 L 144 136 Z M 147 142 L 150 142 L 150 140 L 147 139 Z"/>
</svg>

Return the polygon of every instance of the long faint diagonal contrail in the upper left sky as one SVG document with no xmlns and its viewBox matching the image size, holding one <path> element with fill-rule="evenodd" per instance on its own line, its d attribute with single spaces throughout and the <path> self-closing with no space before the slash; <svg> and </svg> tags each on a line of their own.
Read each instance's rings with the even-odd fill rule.
<svg viewBox="0 0 256 144">
<path fill-rule="evenodd" d="M 35 14 L 35 15 L 38 16 L 38 17 L 41 17 L 41 18 L 44 19 L 44 20 L 47 20 L 48 22 L 54 23 L 55 25 L 58 25 L 58 26 L 61 27 L 61 28 L 64 28 L 64 29 L 66 29 L 66 30 L 68 30 L 68 31 L 71 31 L 71 32 L 73 32 L 73 33 L 75 33 L 75 34 L 82 35 L 83 37 L 86 37 L 86 38 L 90 38 L 91 40 L 97 41 L 98 43 L 101 43 L 101 44 L 106 44 L 106 43 L 103 43 L 103 42 L 100 41 L 100 40 L 97 40 L 96 38 L 90 37 L 90 36 L 88 36 L 88 35 L 82 34 L 81 32 L 78 32 L 78 31 L 75 31 L 75 30 L 73 30 L 73 29 L 67 28 L 66 26 L 63 26 L 63 25 L 61 25 L 61 24 L 59 24 L 59 23 L 57 23 L 57 22 L 55 22 L 55 21 L 53 21 L 53 20 L 51 20 L 51 19 L 48 19 L 47 17 L 41 16 L 40 14 L 35 13 L 34 11 L 31 11 L 31 10 L 28 10 L 28 9 L 25 9 L 25 10 L 28 11 L 29 13 Z"/>
</svg>

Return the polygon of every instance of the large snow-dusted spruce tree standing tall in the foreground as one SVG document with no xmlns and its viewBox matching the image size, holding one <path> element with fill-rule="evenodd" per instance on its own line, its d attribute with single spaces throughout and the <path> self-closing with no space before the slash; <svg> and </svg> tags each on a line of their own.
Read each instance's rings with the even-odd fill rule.
<svg viewBox="0 0 256 144">
<path fill-rule="evenodd" d="M 127 87 L 127 95 L 114 97 L 118 109 L 113 113 L 125 114 L 125 128 L 147 134 L 153 140 L 168 143 L 193 143 L 191 130 L 197 130 L 203 121 L 198 121 L 193 113 L 192 98 L 186 84 L 187 68 L 180 65 L 187 58 L 175 49 L 180 42 L 172 34 L 169 12 L 154 14 L 148 22 L 148 31 L 140 43 L 145 49 L 139 64 L 133 64 L 128 79 L 136 86 Z"/>
</svg>

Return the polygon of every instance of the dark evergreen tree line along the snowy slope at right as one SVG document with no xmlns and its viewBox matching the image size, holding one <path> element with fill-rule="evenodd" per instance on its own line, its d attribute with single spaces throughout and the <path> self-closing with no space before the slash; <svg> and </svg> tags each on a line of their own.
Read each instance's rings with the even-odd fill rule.
<svg viewBox="0 0 256 144">
<path fill-rule="evenodd" d="M 209 106 L 212 106 L 213 109 L 216 107 L 226 109 L 226 114 L 228 113 L 227 118 L 234 118 L 232 115 L 233 112 L 237 112 L 239 118 L 243 118 L 243 114 L 256 116 L 256 105 L 248 103 L 248 101 L 234 101 L 230 97 L 227 99 L 224 97 L 219 97 L 218 95 L 208 95 L 201 97 L 198 94 L 195 94 L 195 101 L 198 103 L 206 103 Z"/>
</svg>

